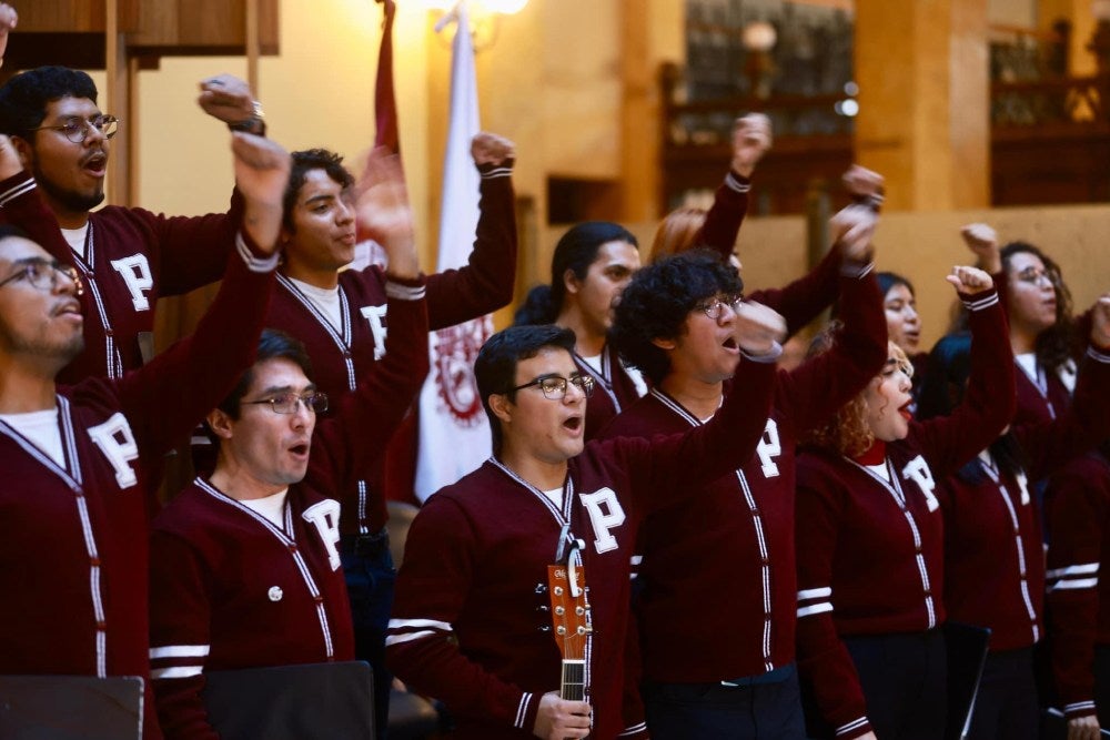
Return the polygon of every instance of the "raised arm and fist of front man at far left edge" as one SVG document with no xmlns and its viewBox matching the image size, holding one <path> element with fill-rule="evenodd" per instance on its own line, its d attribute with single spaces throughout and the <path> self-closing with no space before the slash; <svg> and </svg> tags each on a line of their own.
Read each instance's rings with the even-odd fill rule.
<svg viewBox="0 0 1110 740">
<path fill-rule="evenodd" d="M 244 197 L 243 229 L 224 280 L 196 332 L 120 381 L 132 427 L 154 462 L 231 391 L 254 359 L 273 288 L 289 153 L 252 134 L 232 135 L 235 182 Z"/>
</svg>

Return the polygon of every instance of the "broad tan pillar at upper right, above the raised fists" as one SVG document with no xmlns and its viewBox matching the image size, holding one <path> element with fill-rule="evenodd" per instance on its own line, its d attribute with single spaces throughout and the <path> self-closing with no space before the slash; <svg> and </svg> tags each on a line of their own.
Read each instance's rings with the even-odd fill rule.
<svg viewBox="0 0 1110 740">
<path fill-rule="evenodd" d="M 895 210 L 990 203 L 987 0 L 856 2 L 856 159 Z"/>
</svg>

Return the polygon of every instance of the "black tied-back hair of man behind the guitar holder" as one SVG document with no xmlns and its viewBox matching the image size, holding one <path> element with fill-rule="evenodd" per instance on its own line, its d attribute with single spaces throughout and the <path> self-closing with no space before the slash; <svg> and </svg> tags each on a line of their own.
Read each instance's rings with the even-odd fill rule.
<svg viewBox="0 0 1110 740">
<path fill-rule="evenodd" d="M 566 298 L 564 276 L 569 270 L 578 280 L 584 280 L 589 272 L 589 265 L 597 260 L 597 252 L 603 244 L 624 242 L 637 250 L 639 243 L 630 231 L 609 221 L 584 221 L 567 230 L 552 254 L 552 282 L 549 285 L 537 285 L 528 291 L 524 305 L 516 310 L 513 323 L 549 324 L 563 310 Z"/>
</svg>

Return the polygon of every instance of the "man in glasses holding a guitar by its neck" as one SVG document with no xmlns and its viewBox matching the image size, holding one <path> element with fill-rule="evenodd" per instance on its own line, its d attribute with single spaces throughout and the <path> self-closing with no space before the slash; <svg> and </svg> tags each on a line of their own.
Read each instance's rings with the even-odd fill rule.
<svg viewBox="0 0 1110 740">
<path fill-rule="evenodd" d="M 397 676 L 446 703 L 453 737 L 610 740 L 624 730 L 637 526 L 750 456 L 769 412 L 785 323 L 756 304 L 736 312 L 737 393 L 710 423 L 649 440 L 584 442 L 593 386 L 575 365 L 572 331 L 514 326 L 482 347 L 475 375 L 494 456 L 421 509 L 386 639 Z M 552 565 L 585 574 L 589 629 L 575 663 L 584 701 L 557 692 Z"/>
</svg>

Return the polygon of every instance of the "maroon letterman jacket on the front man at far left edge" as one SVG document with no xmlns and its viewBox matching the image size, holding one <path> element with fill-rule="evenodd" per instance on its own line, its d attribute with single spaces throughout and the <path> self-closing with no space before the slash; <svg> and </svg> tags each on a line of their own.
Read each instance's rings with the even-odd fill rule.
<svg viewBox="0 0 1110 740">
<path fill-rule="evenodd" d="M 0 673 L 149 675 L 147 483 L 253 361 L 273 285 L 276 257 L 238 245 L 193 336 L 119 381 L 59 388 L 64 465 L 0 422 Z M 159 738 L 147 698 L 143 737 Z"/>
</svg>

